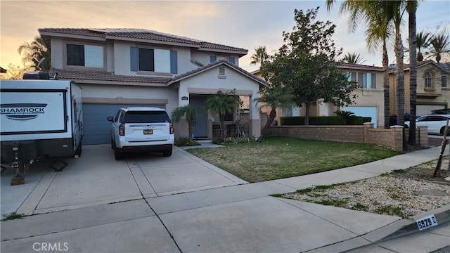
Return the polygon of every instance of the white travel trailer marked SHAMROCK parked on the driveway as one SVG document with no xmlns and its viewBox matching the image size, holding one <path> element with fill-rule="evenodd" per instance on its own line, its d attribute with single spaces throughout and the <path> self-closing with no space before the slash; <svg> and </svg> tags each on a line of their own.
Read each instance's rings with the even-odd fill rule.
<svg viewBox="0 0 450 253">
<path fill-rule="evenodd" d="M 0 80 L 2 170 L 15 168 L 23 181 L 27 167 L 39 158 L 81 155 L 82 138 L 82 89 L 77 84 Z"/>
</svg>

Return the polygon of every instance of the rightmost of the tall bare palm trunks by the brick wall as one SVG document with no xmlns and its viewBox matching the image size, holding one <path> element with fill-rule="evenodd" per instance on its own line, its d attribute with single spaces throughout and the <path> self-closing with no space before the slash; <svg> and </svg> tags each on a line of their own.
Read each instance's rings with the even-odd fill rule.
<svg viewBox="0 0 450 253">
<path fill-rule="evenodd" d="M 416 10 L 409 12 L 409 145 L 416 145 L 416 100 L 417 100 L 417 37 Z"/>
</svg>

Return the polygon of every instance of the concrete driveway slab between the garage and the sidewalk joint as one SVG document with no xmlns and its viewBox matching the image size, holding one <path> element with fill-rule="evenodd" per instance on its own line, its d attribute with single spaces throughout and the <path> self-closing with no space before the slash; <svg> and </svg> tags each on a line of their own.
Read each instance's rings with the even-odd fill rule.
<svg viewBox="0 0 450 253">
<path fill-rule="evenodd" d="M 172 157 L 129 155 L 116 161 L 110 145 L 85 145 L 82 157 L 65 159 L 56 172 L 53 160 L 35 164 L 25 185 L 10 186 L 13 171 L 1 176 L 1 214 L 41 214 L 186 193 L 247 183 L 212 164 L 174 148 Z"/>
</svg>

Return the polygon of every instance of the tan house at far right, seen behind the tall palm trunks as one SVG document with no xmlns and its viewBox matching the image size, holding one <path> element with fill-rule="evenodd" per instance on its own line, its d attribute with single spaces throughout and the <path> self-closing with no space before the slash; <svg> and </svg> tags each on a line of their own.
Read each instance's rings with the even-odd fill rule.
<svg viewBox="0 0 450 253">
<path fill-rule="evenodd" d="M 432 60 L 417 63 L 416 115 L 427 115 L 431 110 L 449 107 L 449 70 L 446 66 L 450 65 L 446 63 L 438 65 Z M 409 64 L 404 65 L 404 76 L 405 113 L 409 113 Z M 397 112 L 397 78 L 394 69 L 390 71 L 390 112 L 391 115 L 396 115 Z"/>
</svg>

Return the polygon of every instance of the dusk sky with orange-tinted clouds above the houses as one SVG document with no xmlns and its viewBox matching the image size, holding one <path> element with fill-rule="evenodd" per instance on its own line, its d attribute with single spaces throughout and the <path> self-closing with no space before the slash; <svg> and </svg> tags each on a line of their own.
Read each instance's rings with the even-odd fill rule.
<svg viewBox="0 0 450 253">
<path fill-rule="evenodd" d="M 291 32 L 294 9 L 320 7 L 318 20 L 337 25 L 336 46 L 344 53 L 360 53 L 365 65 L 381 66 L 381 51 L 366 49 L 365 25 L 349 33 L 347 17 L 339 14 L 340 1 L 330 12 L 323 1 L 0 1 L 0 66 L 22 66 L 18 46 L 38 36 L 39 28 L 141 28 L 248 49 L 240 67 L 256 70 L 250 56 L 258 46 L 268 53 L 283 44 L 282 32 Z M 446 27 L 450 35 L 450 1 L 423 1 L 417 11 L 418 32 Z M 404 14 L 404 46 L 407 13 Z M 392 46 L 390 46 L 392 51 Z M 394 63 L 390 53 L 390 63 Z"/>
</svg>

